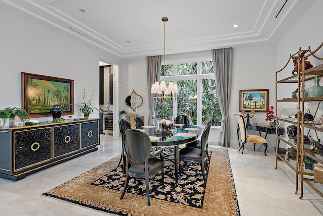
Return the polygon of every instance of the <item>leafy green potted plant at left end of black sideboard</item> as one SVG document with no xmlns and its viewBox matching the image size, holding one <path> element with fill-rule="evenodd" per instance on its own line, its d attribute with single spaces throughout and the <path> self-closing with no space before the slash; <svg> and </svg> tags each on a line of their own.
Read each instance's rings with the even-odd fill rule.
<svg viewBox="0 0 323 216">
<path fill-rule="evenodd" d="M 2 119 L 3 127 L 11 127 L 14 125 L 15 117 L 18 117 L 20 121 L 24 121 L 29 118 L 28 113 L 19 107 L 7 107 L 0 111 L 0 119 Z"/>
</svg>

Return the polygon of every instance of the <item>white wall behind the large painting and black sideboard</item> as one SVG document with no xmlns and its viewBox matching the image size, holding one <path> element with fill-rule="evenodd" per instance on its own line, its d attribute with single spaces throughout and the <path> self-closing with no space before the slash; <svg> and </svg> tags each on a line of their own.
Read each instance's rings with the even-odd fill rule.
<svg viewBox="0 0 323 216">
<path fill-rule="evenodd" d="M 106 54 L 3 9 L 0 26 L 0 109 L 22 106 L 21 72 L 73 79 L 74 102 L 82 99 L 83 88 L 88 97 L 96 89 L 98 107 L 99 59 L 108 59 Z M 77 108 L 74 113 L 83 116 Z M 98 112 L 90 117 L 98 117 Z"/>
</svg>

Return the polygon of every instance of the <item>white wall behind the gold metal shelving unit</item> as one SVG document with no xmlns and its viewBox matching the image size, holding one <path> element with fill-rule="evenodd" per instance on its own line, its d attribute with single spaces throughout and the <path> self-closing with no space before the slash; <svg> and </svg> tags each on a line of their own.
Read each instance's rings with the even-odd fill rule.
<svg viewBox="0 0 323 216">
<path fill-rule="evenodd" d="M 278 41 L 277 49 L 276 49 L 276 61 L 277 66 L 276 70 L 280 70 L 285 66 L 289 59 L 290 54 L 294 54 L 299 50 L 299 47 L 302 49 L 307 49 L 308 46 L 311 47 L 311 50 L 316 49 L 318 45 L 323 42 L 323 28 L 321 27 L 321 12 L 323 8 L 323 1 L 315 1 L 313 5 L 302 15 L 302 17 L 295 22 L 293 26 L 286 32 L 286 34 Z M 321 48 L 317 52 L 317 56 L 322 58 L 323 57 L 323 48 Z M 322 61 L 309 58 L 308 59 L 313 66 L 322 64 Z M 280 78 L 288 77 L 291 75 L 294 66 L 293 63 L 289 63 L 286 69 L 279 73 Z M 305 90 L 311 87 L 313 83 L 311 81 L 305 84 Z M 323 86 L 323 80 L 321 79 L 320 85 Z M 281 98 L 284 97 L 291 97 L 291 92 L 297 88 L 297 84 L 288 84 L 284 85 L 283 92 L 279 91 L 279 96 Z M 318 102 L 311 102 L 313 110 L 311 111 L 312 114 L 315 113 L 315 109 L 317 107 Z M 288 104 L 283 103 L 280 104 L 282 107 L 287 106 Z M 297 103 L 294 103 L 290 106 L 295 106 Z M 323 105 L 318 107 L 317 115 L 314 121 L 318 121 L 318 116 L 323 114 Z M 281 115 L 280 113 L 278 114 Z M 284 116 L 282 116 L 284 118 Z M 288 124 L 282 124 L 284 128 L 288 126 Z M 305 135 L 307 132 L 305 133 Z M 317 140 L 316 135 L 313 131 L 311 131 L 310 135 L 313 136 L 315 140 Z M 321 133 L 318 133 L 318 138 L 323 140 Z M 284 144 L 282 145 L 284 147 Z M 287 147 L 287 146 L 285 146 Z"/>
</svg>

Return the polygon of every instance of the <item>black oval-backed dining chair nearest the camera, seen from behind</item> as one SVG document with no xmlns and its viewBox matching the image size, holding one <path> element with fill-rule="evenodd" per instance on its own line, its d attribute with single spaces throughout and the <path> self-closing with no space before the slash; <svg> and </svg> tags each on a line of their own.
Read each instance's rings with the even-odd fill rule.
<svg viewBox="0 0 323 216">
<path fill-rule="evenodd" d="M 125 131 L 122 148 L 126 158 L 126 179 L 120 199 L 123 199 L 127 191 L 130 177 L 145 179 L 147 204 L 150 206 L 149 176 L 154 176 L 161 171 L 161 181 L 164 184 L 163 149 L 156 151 L 152 157 L 149 136 L 135 129 Z M 158 155 L 159 158 L 156 157 Z"/>
</svg>

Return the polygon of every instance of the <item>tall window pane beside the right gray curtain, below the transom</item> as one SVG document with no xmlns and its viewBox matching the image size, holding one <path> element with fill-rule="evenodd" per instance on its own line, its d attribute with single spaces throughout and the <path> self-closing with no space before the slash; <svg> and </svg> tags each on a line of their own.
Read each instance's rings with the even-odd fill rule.
<svg viewBox="0 0 323 216">
<path fill-rule="evenodd" d="M 221 112 L 215 79 L 202 80 L 202 125 L 213 119 L 212 125 L 221 125 Z"/>
</svg>

